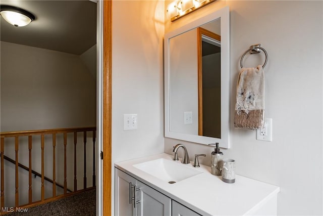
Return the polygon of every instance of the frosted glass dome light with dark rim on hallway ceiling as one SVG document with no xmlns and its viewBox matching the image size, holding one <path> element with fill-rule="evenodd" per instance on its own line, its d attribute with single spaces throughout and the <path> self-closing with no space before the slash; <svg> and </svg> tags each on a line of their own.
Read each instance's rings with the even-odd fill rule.
<svg viewBox="0 0 323 216">
<path fill-rule="evenodd" d="M 35 16 L 30 12 L 8 5 L 1 6 L 0 14 L 7 22 L 16 27 L 28 25 L 35 19 Z"/>
</svg>

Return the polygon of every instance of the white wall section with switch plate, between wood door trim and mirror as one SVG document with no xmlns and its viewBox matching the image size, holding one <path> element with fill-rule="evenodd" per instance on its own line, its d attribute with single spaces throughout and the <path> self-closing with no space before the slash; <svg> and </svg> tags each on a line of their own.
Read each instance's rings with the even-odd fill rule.
<svg viewBox="0 0 323 216">
<path fill-rule="evenodd" d="M 112 4 L 112 215 L 114 163 L 164 152 L 164 1 Z M 123 130 L 123 114 L 138 129 Z"/>
</svg>

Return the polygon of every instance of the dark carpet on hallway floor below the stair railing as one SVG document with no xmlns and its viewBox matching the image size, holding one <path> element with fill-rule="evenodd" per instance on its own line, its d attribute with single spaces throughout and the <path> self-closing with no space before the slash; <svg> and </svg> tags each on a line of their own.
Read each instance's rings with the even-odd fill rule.
<svg viewBox="0 0 323 216">
<path fill-rule="evenodd" d="M 13 212 L 7 215 L 95 215 L 95 197 L 95 189 L 91 189 L 56 201 L 30 207 L 27 212 Z"/>
</svg>

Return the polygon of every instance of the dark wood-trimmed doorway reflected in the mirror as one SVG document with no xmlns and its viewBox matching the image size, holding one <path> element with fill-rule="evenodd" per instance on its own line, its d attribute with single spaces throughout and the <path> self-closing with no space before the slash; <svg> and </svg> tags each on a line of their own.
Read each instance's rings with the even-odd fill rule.
<svg viewBox="0 0 323 216">
<path fill-rule="evenodd" d="M 221 18 L 197 28 L 198 135 L 221 138 Z"/>
</svg>

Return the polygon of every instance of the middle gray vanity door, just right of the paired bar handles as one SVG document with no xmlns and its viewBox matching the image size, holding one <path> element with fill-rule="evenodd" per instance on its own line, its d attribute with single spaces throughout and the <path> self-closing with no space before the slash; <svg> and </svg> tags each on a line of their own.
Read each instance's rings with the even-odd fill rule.
<svg viewBox="0 0 323 216">
<path fill-rule="evenodd" d="M 138 181 L 138 215 L 171 216 L 171 198 Z"/>
</svg>

